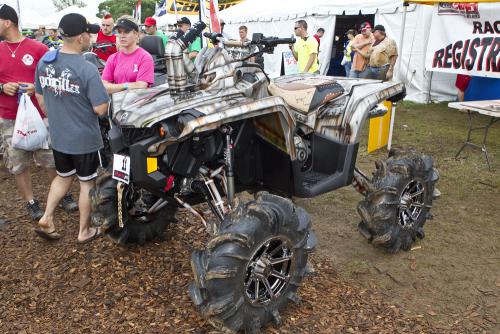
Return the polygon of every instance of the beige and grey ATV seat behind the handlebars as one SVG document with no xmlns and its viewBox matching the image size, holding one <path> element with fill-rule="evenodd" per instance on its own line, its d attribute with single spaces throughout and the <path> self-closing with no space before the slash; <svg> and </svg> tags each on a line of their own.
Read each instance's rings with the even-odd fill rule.
<svg viewBox="0 0 500 334">
<path fill-rule="evenodd" d="M 299 74 L 272 80 L 269 93 L 282 97 L 292 108 L 308 113 L 342 95 L 344 87 L 331 77 Z"/>
</svg>

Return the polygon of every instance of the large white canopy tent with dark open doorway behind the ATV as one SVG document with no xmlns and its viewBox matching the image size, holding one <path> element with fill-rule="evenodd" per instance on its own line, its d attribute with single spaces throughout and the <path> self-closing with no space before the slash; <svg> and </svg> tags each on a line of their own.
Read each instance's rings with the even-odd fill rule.
<svg viewBox="0 0 500 334">
<path fill-rule="evenodd" d="M 262 32 L 266 36 L 289 37 L 293 34 L 294 22 L 304 19 L 309 25 L 309 34 L 320 27 L 325 29 L 321 39 L 319 53 L 320 72 L 326 74 L 332 58 L 335 24 L 338 15 L 375 16 L 375 24 L 382 24 L 387 35 L 399 42 L 403 1 L 393 0 L 251 0 L 232 6 L 220 12 L 226 21 L 225 31 L 231 36 L 238 36 L 238 27 L 246 25 L 249 33 Z M 425 49 L 432 20 L 431 9 L 427 6 L 410 5 L 407 8 L 404 50 L 398 61 L 401 61 L 395 80 L 403 81 L 407 87 L 407 99 L 426 102 L 428 90 L 431 88 L 432 100 L 451 100 L 456 95 L 454 75 L 434 73 L 432 81 L 430 73 L 425 70 Z M 339 32 L 337 32 L 338 34 Z M 344 33 L 344 32 L 341 32 Z M 281 53 L 288 46 L 281 45 L 273 55 L 265 55 L 265 70 L 271 77 L 280 75 Z"/>
</svg>

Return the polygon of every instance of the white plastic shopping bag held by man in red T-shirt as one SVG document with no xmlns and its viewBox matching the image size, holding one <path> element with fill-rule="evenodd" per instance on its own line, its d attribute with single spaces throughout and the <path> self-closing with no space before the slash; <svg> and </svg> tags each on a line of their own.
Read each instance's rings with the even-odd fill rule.
<svg viewBox="0 0 500 334">
<path fill-rule="evenodd" d="M 48 149 L 48 138 L 49 132 L 38 110 L 30 97 L 22 94 L 12 134 L 12 146 L 25 151 Z"/>
</svg>

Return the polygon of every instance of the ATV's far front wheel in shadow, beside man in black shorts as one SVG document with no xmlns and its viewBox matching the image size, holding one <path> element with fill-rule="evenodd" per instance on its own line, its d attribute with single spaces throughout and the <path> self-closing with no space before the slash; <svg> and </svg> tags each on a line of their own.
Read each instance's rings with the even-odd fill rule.
<svg viewBox="0 0 500 334">
<path fill-rule="evenodd" d="M 90 191 L 92 206 L 92 221 L 113 241 L 125 245 L 127 243 L 144 244 L 154 238 L 163 238 L 166 226 L 174 221 L 177 207 L 167 204 L 154 214 L 131 215 L 129 213 L 130 199 L 127 200 L 124 191 L 123 228 L 118 222 L 118 192 L 117 181 L 107 171 L 99 176 L 95 187 Z"/>
</svg>

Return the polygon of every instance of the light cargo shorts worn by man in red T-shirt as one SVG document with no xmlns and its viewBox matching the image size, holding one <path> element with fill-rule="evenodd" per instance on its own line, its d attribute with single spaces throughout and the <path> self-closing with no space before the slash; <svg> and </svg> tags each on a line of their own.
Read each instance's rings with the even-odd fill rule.
<svg viewBox="0 0 500 334">
<path fill-rule="evenodd" d="M 31 159 L 38 167 L 55 168 L 52 150 L 40 149 L 37 151 L 24 151 L 12 147 L 12 133 L 14 132 L 15 120 L 0 118 L 0 136 L 2 138 L 0 152 L 3 153 L 5 167 L 11 174 L 22 173 L 30 166 Z"/>
</svg>

